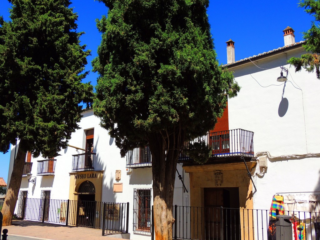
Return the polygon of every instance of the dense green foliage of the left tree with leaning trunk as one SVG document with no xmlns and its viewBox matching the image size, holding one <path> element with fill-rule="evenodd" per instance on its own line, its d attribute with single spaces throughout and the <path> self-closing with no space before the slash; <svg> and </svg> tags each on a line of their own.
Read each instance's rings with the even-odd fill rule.
<svg viewBox="0 0 320 240">
<path fill-rule="evenodd" d="M 24 151 L 56 156 L 92 98 L 81 82 L 90 51 L 69 0 L 10 2 L 11 21 L 0 20 L 0 151 L 18 137 Z"/>
</svg>

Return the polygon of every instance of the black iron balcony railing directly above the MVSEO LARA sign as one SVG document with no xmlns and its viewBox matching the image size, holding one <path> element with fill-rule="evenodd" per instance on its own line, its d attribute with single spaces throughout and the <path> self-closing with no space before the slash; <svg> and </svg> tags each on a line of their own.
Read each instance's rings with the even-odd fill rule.
<svg viewBox="0 0 320 240">
<path fill-rule="evenodd" d="M 93 171 L 96 153 L 72 155 L 72 172 Z"/>
</svg>

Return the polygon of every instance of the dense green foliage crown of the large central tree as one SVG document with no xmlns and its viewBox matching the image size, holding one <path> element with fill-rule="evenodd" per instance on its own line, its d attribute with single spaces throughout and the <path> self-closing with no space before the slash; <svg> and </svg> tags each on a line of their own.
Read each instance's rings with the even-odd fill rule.
<svg viewBox="0 0 320 240">
<path fill-rule="evenodd" d="M 209 1 L 100 2 L 109 11 L 97 20 L 102 41 L 92 63 L 99 73 L 93 108 L 122 156 L 155 133 L 183 141 L 212 129 L 224 93 L 235 96 L 239 86 L 216 60 Z"/>
</svg>

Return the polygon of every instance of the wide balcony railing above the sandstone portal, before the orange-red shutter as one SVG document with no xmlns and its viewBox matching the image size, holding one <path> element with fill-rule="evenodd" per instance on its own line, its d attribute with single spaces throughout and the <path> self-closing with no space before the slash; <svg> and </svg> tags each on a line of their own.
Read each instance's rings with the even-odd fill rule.
<svg viewBox="0 0 320 240">
<path fill-rule="evenodd" d="M 212 149 L 212 157 L 246 156 L 253 157 L 253 132 L 233 129 L 220 132 L 209 132 L 205 136 L 186 142 L 179 160 L 188 160 L 186 149 L 190 143 L 204 141 Z"/>
</svg>

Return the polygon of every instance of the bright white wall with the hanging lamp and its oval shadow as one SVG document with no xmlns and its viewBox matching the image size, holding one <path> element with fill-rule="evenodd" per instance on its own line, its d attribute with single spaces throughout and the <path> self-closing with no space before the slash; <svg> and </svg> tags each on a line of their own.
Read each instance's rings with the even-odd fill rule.
<svg viewBox="0 0 320 240">
<path fill-rule="evenodd" d="M 235 72 L 235 79 L 241 86 L 238 96 L 228 100 L 229 128 L 254 132 L 256 156 L 262 156 L 257 153 L 264 151 L 271 156 L 297 155 L 268 158 L 265 174 L 254 176 L 257 187 L 253 194 L 255 209 L 270 209 L 272 196 L 276 193 L 320 191 L 320 80 L 316 79 L 315 73 L 305 70 L 295 73 L 294 68 L 286 64 L 287 59 L 299 57 L 303 51 L 300 48 L 254 61 L 260 68 L 252 62 L 229 68 Z M 285 89 L 283 83 L 276 81 L 280 66 L 289 69 Z M 280 117 L 278 108 L 283 89 L 283 97 L 289 104 L 285 115 Z M 316 154 L 298 156 L 310 153 Z M 260 171 L 259 167 L 257 171 Z"/>
</svg>

